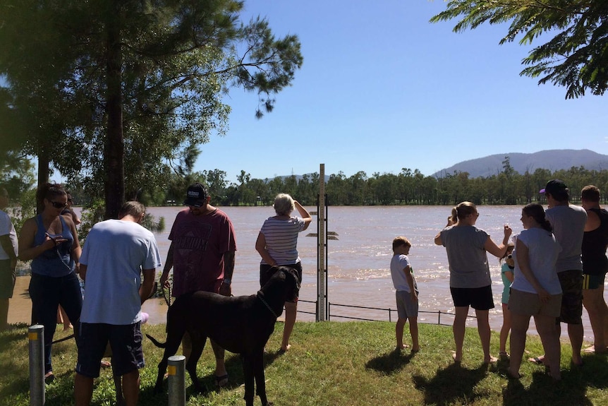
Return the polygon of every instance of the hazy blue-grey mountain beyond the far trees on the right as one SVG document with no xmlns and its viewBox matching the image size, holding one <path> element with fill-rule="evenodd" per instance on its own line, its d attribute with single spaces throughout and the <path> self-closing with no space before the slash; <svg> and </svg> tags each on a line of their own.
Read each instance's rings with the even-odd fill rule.
<svg viewBox="0 0 608 406">
<path fill-rule="evenodd" d="M 533 173 L 536 169 L 549 169 L 559 171 L 571 167 L 585 167 L 590 170 L 608 169 L 608 155 L 594 153 L 590 150 L 545 150 L 537 153 L 504 153 L 488 155 L 459 162 L 449 168 L 442 169 L 432 174 L 433 177 L 444 177 L 454 172 L 468 172 L 471 178 L 491 177 L 502 172 L 504 157 L 509 157 L 511 167 L 518 173 L 526 171 Z"/>
</svg>

